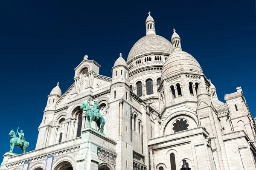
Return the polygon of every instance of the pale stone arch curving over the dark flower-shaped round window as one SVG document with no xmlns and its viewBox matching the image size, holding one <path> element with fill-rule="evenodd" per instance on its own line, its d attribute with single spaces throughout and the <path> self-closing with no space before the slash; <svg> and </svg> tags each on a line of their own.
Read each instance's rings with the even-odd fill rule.
<svg viewBox="0 0 256 170">
<path fill-rule="evenodd" d="M 184 117 L 188 117 L 187 119 Z M 175 120 L 177 119 L 180 119 L 184 117 L 183 119 L 186 119 L 188 122 L 189 120 L 188 119 L 191 119 L 193 122 L 193 124 L 198 127 L 198 122 L 196 121 L 196 116 L 195 114 L 189 112 L 189 111 L 177 111 L 177 112 L 174 112 L 172 113 L 171 115 L 169 115 L 164 121 L 163 121 L 163 124 L 161 125 L 160 127 L 160 133 L 163 135 L 165 134 L 165 130 L 166 130 L 166 126 L 170 124 L 173 124 L 173 122 L 175 122 Z M 191 122 L 189 122 L 189 125 L 193 125 L 191 124 Z M 191 126 L 190 126 L 191 127 Z M 193 127 L 192 127 L 193 128 Z"/>
</svg>

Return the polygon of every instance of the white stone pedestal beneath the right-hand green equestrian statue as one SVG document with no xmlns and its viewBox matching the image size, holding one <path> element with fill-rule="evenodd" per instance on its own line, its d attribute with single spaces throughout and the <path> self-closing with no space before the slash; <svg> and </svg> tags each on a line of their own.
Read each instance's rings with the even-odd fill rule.
<svg viewBox="0 0 256 170">
<path fill-rule="evenodd" d="M 90 127 L 81 133 L 76 170 L 98 170 L 101 165 L 115 169 L 116 142 Z"/>
</svg>

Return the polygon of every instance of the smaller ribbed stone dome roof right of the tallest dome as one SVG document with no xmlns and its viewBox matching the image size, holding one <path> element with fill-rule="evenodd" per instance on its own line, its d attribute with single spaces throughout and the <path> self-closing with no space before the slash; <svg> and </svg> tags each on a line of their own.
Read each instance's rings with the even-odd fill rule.
<svg viewBox="0 0 256 170">
<path fill-rule="evenodd" d="M 177 74 L 180 71 L 201 73 L 202 68 L 198 61 L 185 51 L 172 53 L 163 64 L 161 79 Z"/>
</svg>

